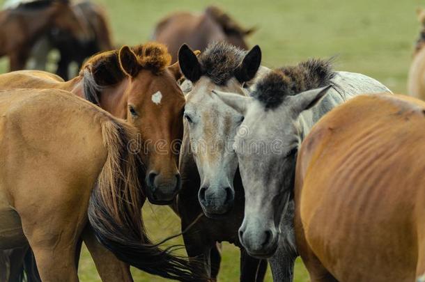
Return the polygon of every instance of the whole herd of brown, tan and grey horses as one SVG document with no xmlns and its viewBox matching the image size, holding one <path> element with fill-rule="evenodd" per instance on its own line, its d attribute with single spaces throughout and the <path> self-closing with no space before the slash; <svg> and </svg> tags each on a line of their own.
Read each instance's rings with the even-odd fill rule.
<svg viewBox="0 0 425 282">
<path fill-rule="evenodd" d="M 261 65 L 254 29 L 216 7 L 114 49 L 105 13 L 83 3 L 0 12 L 10 31 L 46 19 L 0 41 L 15 70 L 0 75 L 1 281 L 78 281 L 82 242 L 102 281 L 132 281 L 130 266 L 217 281 L 219 242 L 240 248 L 244 282 L 268 265 L 293 281 L 297 256 L 313 282 L 425 281 L 425 31 L 411 97 L 332 60 Z M 86 7 L 102 16 L 77 16 Z M 99 52 L 64 57 L 77 76 L 17 70 L 62 33 Z M 146 199 L 178 214 L 187 258 L 150 241 Z"/>
</svg>

